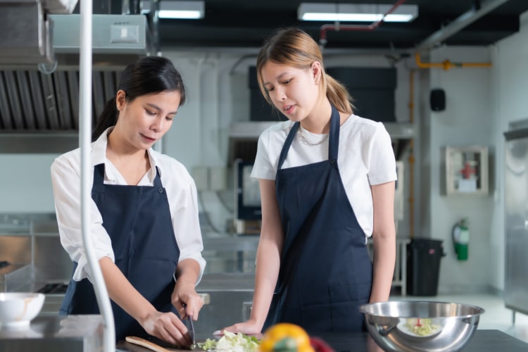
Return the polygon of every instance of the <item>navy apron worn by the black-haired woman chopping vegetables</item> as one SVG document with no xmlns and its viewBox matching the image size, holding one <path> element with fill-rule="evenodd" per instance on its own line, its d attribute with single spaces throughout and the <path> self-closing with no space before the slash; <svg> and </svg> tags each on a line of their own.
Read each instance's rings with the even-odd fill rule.
<svg viewBox="0 0 528 352">
<path fill-rule="evenodd" d="M 104 164 L 96 165 L 92 199 L 111 238 L 115 265 L 157 310 L 176 313 L 170 297 L 180 249 L 158 168 L 153 186 L 104 184 L 103 180 Z M 76 267 L 74 263 L 74 271 Z M 128 335 L 148 337 L 141 325 L 113 301 L 112 308 L 117 341 Z M 94 287 L 88 279 L 70 280 L 60 313 L 99 314 Z"/>
</svg>

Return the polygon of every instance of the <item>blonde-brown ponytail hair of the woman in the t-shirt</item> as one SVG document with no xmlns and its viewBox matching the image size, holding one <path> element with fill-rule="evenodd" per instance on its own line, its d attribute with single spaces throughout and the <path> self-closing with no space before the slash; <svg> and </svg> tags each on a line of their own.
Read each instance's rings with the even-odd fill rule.
<svg viewBox="0 0 528 352">
<path fill-rule="evenodd" d="M 352 98 L 346 87 L 325 72 L 322 53 L 317 42 L 309 34 L 295 27 L 279 30 L 268 39 L 260 49 L 257 58 L 257 80 L 260 92 L 268 103 L 272 103 L 268 90 L 265 89 L 261 70 L 265 63 L 271 61 L 279 65 L 295 68 L 310 68 L 313 62 L 321 64 L 321 94 L 327 96 L 330 103 L 342 113 L 353 113 Z"/>
</svg>

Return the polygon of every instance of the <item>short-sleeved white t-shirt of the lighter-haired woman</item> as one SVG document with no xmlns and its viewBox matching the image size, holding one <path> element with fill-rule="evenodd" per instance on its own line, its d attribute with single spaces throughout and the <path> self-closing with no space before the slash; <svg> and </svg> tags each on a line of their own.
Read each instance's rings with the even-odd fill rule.
<svg viewBox="0 0 528 352">
<path fill-rule="evenodd" d="M 292 125 L 291 121 L 280 122 L 260 134 L 252 177 L 275 180 L 280 151 Z M 302 133 L 311 144 L 323 142 L 315 146 L 308 145 L 300 139 L 297 132 L 282 168 L 328 159 L 327 135 L 314 134 L 307 130 Z M 348 201 L 365 232 L 365 237 L 370 237 L 373 228 L 370 186 L 396 180 L 396 161 L 391 137 L 382 122 L 351 115 L 339 130 L 337 165 Z"/>
</svg>

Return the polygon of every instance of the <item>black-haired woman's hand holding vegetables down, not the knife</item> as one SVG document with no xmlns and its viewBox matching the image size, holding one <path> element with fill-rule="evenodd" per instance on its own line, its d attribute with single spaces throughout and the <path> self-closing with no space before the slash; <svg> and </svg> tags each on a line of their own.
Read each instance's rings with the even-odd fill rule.
<svg viewBox="0 0 528 352">
<path fill-rule="evenodd" d="M 180 347 L 189 347 L 192 344 L 187 327 L 175 313 L 162 313 L 156 310 L 147 315 L 139 324 L 142 325 L 147 334 L 167 341 L 169 344 Z"/>
</svg>

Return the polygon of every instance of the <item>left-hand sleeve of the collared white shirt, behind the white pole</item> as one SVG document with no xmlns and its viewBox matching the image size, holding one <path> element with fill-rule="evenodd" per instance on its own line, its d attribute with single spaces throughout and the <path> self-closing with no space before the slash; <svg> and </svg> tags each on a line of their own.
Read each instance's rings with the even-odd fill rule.
<svg viewBox="0 0 528 352">
<path fill-rule="evenodd" d="M 80 165 L 75 161 L 57 158 L 51 165 L 55 212 L 61 244 L 77 263 L 73 279 L 80 281 L 91 276 L 81 231 Z M 115 261 L 111 239 L 103 227 L 103 218 L 90 197 L 90 234 L 97 260 L 108 257 Z"/>
</svg>

